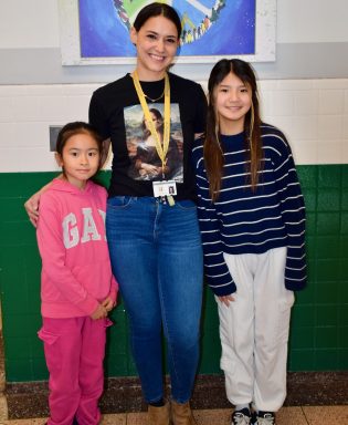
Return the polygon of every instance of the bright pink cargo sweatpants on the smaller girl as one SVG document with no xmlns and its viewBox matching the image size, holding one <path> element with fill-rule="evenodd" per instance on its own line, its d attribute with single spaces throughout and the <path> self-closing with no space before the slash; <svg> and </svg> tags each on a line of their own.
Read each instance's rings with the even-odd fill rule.
<svg viewBox="0 0 348 425">
<path fill-rule="evenodd" d="M 49 425 L 96 425 L 103 393 L 106 326 L 108 319 L 89 317 L 43 318 L 39 338 L 44 342 L 50 372 Z"/>
</svg>

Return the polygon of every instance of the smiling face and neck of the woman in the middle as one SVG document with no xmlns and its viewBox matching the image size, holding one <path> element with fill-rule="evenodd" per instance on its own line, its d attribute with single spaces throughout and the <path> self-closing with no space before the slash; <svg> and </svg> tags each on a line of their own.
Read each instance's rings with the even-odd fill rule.
<svg viewBox="0 0 348 425">
<path fill-rule="evenodd" d="M 177 27 L 169 19 L 149 18 L 139 31 L 130 30 L 137 48 L 137 72 L 141 81 L 161 80 L 178 49 Z"/>
</svg>

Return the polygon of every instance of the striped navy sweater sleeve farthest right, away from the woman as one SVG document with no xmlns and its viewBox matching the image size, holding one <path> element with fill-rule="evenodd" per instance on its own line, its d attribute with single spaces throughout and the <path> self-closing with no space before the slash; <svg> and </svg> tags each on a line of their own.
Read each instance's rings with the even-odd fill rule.
<svg viewBox="0 0 348 425">
<path fill-rule="evenodd" d="M 285 287 L 300 290 L 305 287 L 305 203 L 298 182 L 293 154 L 284 135 L 280 155 L 275 160 L 275 179 L 281 212 L 287 234 L 287 258 L 285 267 Z"/>
</svg>

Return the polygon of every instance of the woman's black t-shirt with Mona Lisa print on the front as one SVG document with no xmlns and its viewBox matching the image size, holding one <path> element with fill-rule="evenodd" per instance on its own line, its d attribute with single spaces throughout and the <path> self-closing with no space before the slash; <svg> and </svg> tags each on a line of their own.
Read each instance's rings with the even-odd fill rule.
<svg viewBox="0 0 348 425">
<path fill-rule="evenodd" d="M 196 199 L 190 155 L 194 133 L 205 129 L 207 101 L 199 84 L 171 73 L 169 81 L 171 124 L 165 178 L 177 182 L 178 200 Z M 140 84 L 144 93 L 155 100 L 147 99 L 161 134 L 165 80 Z M 154 196 L 152 182 L 162 179 L 161 164 L 129 74 L 93 93 L 89 123 L 103 138 L 112 141 L 109 196 Z"/>
</svg>

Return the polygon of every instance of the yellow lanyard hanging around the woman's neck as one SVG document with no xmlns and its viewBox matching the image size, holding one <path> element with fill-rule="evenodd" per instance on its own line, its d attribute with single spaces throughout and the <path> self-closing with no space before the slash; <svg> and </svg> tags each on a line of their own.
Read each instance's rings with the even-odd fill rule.
<svg viewBox="0 0 348 425">
<path fill-rule="evenodd" d="M 151 136 L 155 139 L 156 151 L 162 163 L 162 175 L 165 175 L 165 166 L 167 162 L 166 157 L 169 148 L 169 135 L 170 135 L 170 85 L 169 85 L 168 74 L 167 72 L 165 74 L 165 124 L 164 124 L 164 143 L 162 144 L 160 142 L 159 134 L 155 127 L 149 106 L 146 102 L 145 94 L 143 92 L 143 89 L 139 82 L 139 76 L 137 71 L 134 71 L 133 73 L 133 82 L 134 82 L 134 86 L 137 92 L 137 95 L 145 115 L 145 121 L 148 125 Z"/>
</svg>

